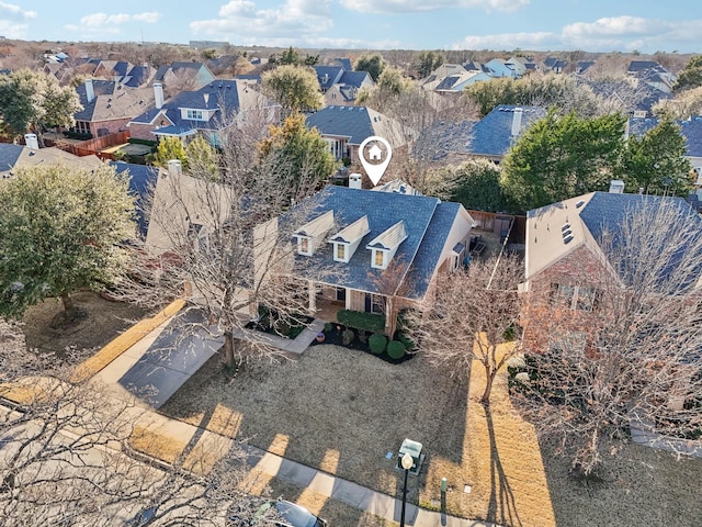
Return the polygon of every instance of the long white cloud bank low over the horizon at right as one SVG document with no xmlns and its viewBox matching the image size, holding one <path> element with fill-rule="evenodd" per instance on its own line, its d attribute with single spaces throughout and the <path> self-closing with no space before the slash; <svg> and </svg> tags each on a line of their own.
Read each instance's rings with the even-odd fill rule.
<svg viewBox="0 0 702 527">
<path fill-rule="evenodd" d="M 698 47 L 702 20 L 670 22 L 638 16 L 599 19 L 575 22 L 561 32 L 507 33 L 466 36 L 452 45 L 454 49 L 585 49 L 612 52 L 638 49 L 654 53 L 671 45 L 681 52 Z"/>
</svg>

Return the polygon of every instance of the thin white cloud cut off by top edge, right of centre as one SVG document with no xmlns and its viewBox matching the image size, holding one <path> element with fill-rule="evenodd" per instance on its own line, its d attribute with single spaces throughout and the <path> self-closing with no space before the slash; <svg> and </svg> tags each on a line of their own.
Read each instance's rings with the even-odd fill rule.
<svg viewBox="0 0 702 527">
<path fill-rule="evenodd" d="M 442 8 L 483 8 L 486 11 L 512 12 L 531 0 L 339 0 L 341 5 L 361 13 L 409 13 Z"/>
</svg>

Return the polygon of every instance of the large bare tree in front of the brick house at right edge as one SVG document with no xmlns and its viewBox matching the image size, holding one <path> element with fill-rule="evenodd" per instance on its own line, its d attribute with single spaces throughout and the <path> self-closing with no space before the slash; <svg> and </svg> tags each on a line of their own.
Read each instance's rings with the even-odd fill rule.
<svg viewBox="0 0 702 527">
<path fill-rule="evenodd" d="M 699 218 L 682 200 L 647 199 L 600 247 L 530 283 L 526 355 L 512 365 L 517 400 L 585 473 L 605 437 L 702 426 Z"/>
</svg>

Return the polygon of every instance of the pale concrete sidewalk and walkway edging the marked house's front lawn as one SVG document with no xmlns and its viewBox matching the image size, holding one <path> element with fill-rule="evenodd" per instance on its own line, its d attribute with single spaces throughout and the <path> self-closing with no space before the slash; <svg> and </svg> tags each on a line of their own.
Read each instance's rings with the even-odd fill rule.
<svg viewBox="0 0 702 527">
<path fill-rule="evenodd" d="M 103 368 L 93 379 L 104 384 L 109 393 L 117 399 L 124 400 L 124 397 L 133 397 L 131 391 L 123 385 L 121 380 L 139 362 L 145 354 L 148 354 L 154 343 L 168 326 L 168 322 L 169 321 L 160 324 L 135 345 L 124 350 L 120 357 Z M 305 329 L 294 340 L 272 335 L 265 335 L 264 338 L 267 338 L 270 345 L 279 349 L 301 354 L 307 348 L 322 327 L 324 322 L 315 321 L 310 328 Z M 132 412 L 134 413 L 134 423 L 136 426 L 147 429 L 155 436 L 166 440 L 170 439 L 174 445 L 186 445 L 191 451 L 197 447 L 207 452 L 222 452 L 230 449 L 235 442 L 231 438 L 167 417 L 154 411 L 152 406 L 146 401 L 137 399 L 137 406 L 132 408 Z M 301 489 L 309 489 L 321 496 L 346 503 L 360 511 L 367 511 L 382 518 L 399 522 L 401 501 L 394 496 L 361 486 L 351 481 L 291 461 L 256 447 L 241 444 L 237 445 L 245 449 L 248 457 L 248 464 L 251 468 L 251 474 L 264 474 L 270 478 L 279 478 Z M 495 524 L 441 515 L 438 512 L 426 511 L 409 503 L 406 506 L 406 525 L 416 527 L 495 526 Z"/>
</svg>

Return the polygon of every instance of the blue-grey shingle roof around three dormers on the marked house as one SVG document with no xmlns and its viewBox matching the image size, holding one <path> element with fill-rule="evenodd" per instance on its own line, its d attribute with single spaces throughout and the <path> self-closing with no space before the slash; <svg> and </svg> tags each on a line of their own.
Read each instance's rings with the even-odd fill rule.
<svg viewBox="0 0 702 527">
<path fill-rule="evenodd" d="M 406 283 L 415 295 L 414 298 L 419 299 L 426 294 L 427 287 L 437 269 L 437 266 L 432 267 L 432 264 L 435 264 L 441 256 L 441 249 L 439 249 L 438 256 L 431 251 L 438 244 L 438 239 L 442 237 L 445 239 L 453 225 L 453 221 L 446 221 L 446 216 L 450 216 L 451 212 L 457 213 L 460 208 L 460 204 L 453 203 L 441 209 L 440 204 L 441 202 L 437 198 L 328 186 L 299 206 L 305 206 L 306 217 L 316 217 L 320 212 L 333 211 L 335 220 L 342 229 L 352 225 L 360 217 L 367 216 L 370 232 L 364 236 L 364 239 L 369 240 L 385 233 L 398 222 L 403 222 L 407 239 L 399 245 L 393 258 L 393 262 L 399 266 L 399 272 L 396 277 L 390 277 L 393 283 L 389 287 L 397 289 L 409 270 L 407 276 L 412 277 L 412 283 Z M 309 211 L 307 211 L 307 206 L 309 206 Z M 434 220 L 438 210 L 440 213 Z M 282 216 L 281 221 L 291 221 L 294 217 L 294 211 L 295 209 Z M 305 220 L 303 218 L 303 221 Z M 430 227 L 433 235 L 431 239 L 427 237 Z M 420 253 L 420 247 L 424 243 L 429 245 Z M 309 274 L 309 278 L 320 279 L 319 273 L 321 272 L 327 278 L 320 279 L 320 281 L 332 285 L 388 294 L 387 290 L 381 291 L 384 289 L 380 285 L 383 270 L 371 267 L 370 250 L 360 248 L 348 264 L 343 264 L 333 261 L 332 244 L 326 245 L 327 247 L 320 248 L 315 256 L 296 257 L 299 261 L 298 270 L 303 276 Z"/>
</svg>

